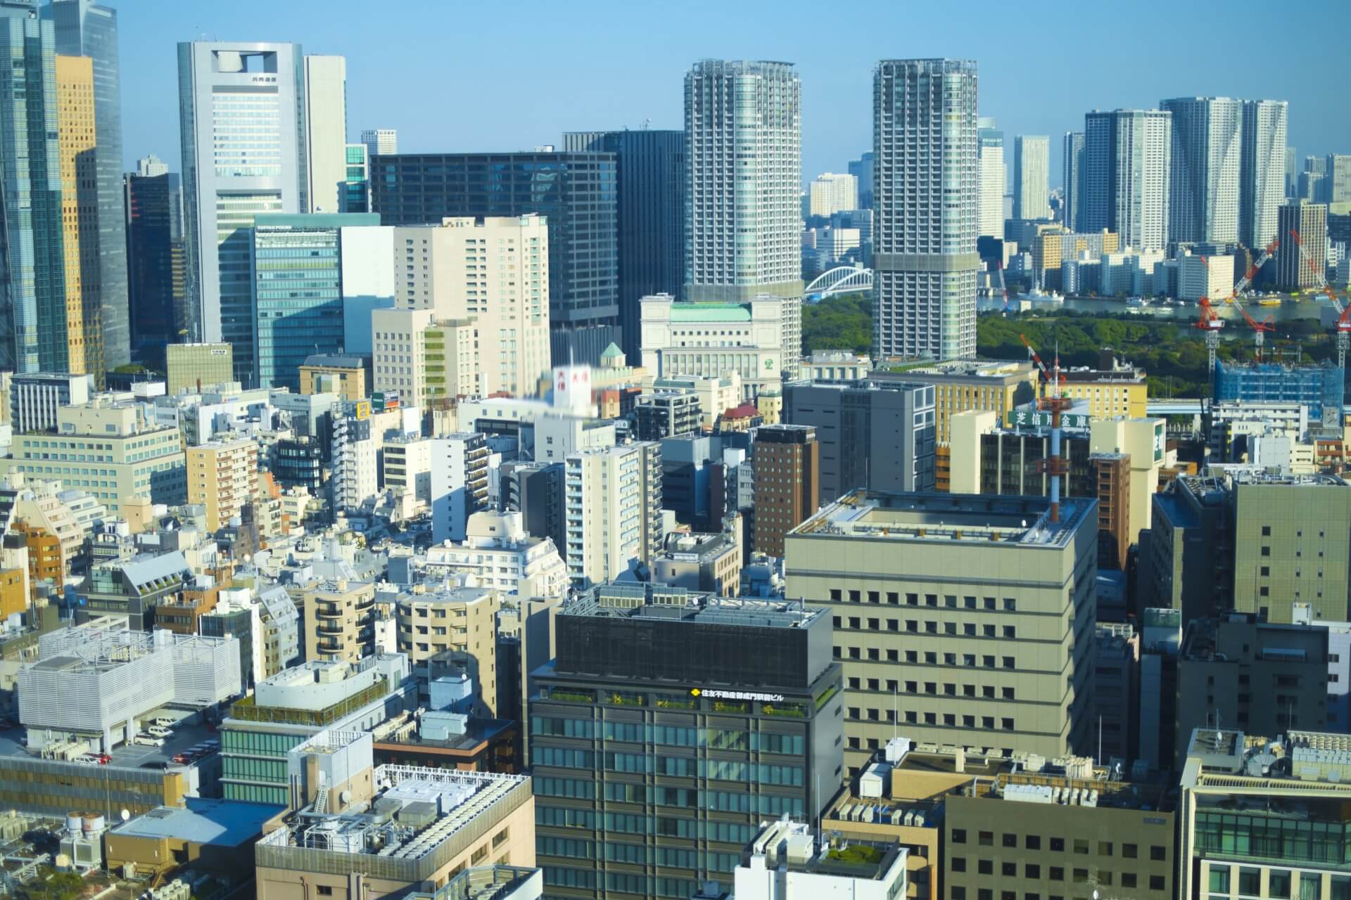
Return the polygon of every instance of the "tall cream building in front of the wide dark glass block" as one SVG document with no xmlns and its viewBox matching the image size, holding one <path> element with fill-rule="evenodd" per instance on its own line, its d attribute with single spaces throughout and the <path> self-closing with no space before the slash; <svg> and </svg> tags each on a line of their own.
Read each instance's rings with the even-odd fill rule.
<svg viewBox="0 0 1351 900">
<path fill-rule="evenodd" d="M 549 371 L 549 228 L 542 216 L 394 229 L 394 305 L 473 320 L 482 394 L 524 397 Z"/>
</svg>

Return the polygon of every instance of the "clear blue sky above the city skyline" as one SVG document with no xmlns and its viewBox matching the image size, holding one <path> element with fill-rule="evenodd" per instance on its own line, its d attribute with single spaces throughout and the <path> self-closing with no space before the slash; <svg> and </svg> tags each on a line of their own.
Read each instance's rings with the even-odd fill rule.
<svg viewBox="0 0 1351 900">
<path fill-rule="evenodd" d="M 1290 103 L 1300 155 L 1351 152 L 1351 3 L 758 3 L 682 0 L 104 0 L 122 28 L 128 167 L 180 167 L 178 40 L 296 40 L 347 57 L 347 124 L 404 151 L 520 150 L 565 130 L 681 127 L 681 80 L 705 57 L 782 59 L 802 78 L 802 174 L 871 143 L 886 57 L 974 58 L 981 113 L 1059 140 L 1089 109 L 1162 97 Z M 1012 163 L 1012 159 L 1011 159 Z"/>
</svg>

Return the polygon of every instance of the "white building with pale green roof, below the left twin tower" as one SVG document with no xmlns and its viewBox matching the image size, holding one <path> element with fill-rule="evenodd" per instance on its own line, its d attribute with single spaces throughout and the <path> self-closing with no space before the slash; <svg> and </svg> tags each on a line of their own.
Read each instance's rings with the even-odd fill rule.
<svg viewBox="0 0 1351 900">
<path fill-rule="evenodd" d="M 797 378 L 802 348 L 800 297 L 759 294 L 747 302 L 643 297 L 643 367 L 659 378 L 719 378 L 735 371 L 746 398 Z"/>
</svg>

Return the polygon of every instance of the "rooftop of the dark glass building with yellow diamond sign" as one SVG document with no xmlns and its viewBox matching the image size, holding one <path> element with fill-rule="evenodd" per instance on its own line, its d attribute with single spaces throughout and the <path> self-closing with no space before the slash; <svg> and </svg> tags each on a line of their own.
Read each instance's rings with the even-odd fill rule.
<svg viewBox="0 0 1351 900">
<path fill-rule="evenodd" d="M 825 615 L 798 600 L 728 598 L 663 584 L 601 584 L 566 600 L 558 613 L 785 629 L 805 629 Z"/>
</svg>

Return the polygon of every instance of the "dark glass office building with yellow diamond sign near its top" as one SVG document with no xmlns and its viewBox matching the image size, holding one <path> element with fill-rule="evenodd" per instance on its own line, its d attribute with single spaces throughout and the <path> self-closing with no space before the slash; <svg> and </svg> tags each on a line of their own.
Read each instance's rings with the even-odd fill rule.
<svg viewBox="0 0 1351 900">
<path fill-rule="evenodd" d="M 828 615 L 654 584 L 558 611 L 530 698 L 550 897 L 688 897 L 730 882 L 759 822 L 815 816 L 843 773 Z"/>
</svg>

